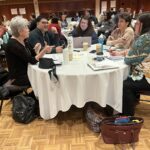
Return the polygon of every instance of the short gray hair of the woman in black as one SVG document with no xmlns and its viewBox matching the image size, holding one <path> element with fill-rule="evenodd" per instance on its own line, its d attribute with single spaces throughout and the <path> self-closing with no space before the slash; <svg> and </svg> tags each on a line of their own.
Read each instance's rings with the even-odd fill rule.
<svg viewBox="0 0 150 150">
<path fill-rule="evenodd" d="M 15 37 L 18 37 L 19 32 L 23 28 L 27 27 L 28 25 L 29 25 L 28 20 L 21 16 L 16 16 L 12 18 L 10 22 L 10 29 L 11 29 L 12 35 Z"/>
</svg>

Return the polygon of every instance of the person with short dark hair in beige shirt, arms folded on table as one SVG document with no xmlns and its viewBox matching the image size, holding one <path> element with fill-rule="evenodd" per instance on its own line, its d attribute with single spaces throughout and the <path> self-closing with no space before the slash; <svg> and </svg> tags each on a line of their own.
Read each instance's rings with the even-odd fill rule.
<svg viewBox="0 0 150 150">
<path fill-rule="evenodd" d="M 106 44 L 117 48 L 128 49 L 134 40 L 134 31 L 130 26 L 131 17 L 128 13 L 119 15 L 118 28 L 108 37 Z"/>
</svg>

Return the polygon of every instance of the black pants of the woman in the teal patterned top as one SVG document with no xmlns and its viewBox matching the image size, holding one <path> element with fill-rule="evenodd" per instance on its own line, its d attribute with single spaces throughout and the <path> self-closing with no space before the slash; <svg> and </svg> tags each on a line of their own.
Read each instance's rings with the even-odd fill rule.
<svg viewBox="0 0 150 150">
<path fill-rule="evenodd" d="M 133 81 L 128 78 L 123 83 L 123 115 L 133 116 L 137 94 L 140 91 L 150 91 L 150 84 L 145 78 Z"/>
</svg>

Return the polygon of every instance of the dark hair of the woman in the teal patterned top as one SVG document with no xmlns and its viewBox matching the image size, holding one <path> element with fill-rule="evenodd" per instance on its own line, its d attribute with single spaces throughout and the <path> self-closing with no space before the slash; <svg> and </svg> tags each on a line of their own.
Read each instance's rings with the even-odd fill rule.
<svg viewBox="0 0 150 150">
<path fill-rule="evenodd" d="M 150 12 L 142 13 L 138 20 L 142 23 L 141 35 L 150 32 Z"/>
</svg>

